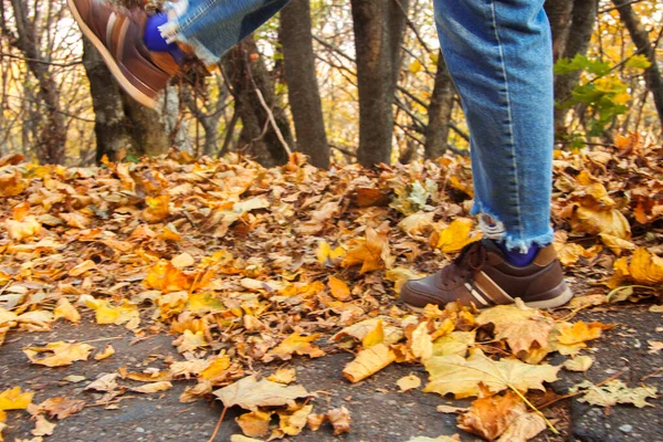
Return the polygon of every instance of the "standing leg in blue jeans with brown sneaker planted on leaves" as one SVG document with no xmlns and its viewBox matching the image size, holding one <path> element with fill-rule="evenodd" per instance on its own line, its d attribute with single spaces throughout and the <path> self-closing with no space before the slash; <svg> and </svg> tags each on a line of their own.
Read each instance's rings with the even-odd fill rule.
<svg viewBox="0 0 663 442">
<path fill-rule="evenodd" d="M 411 305 L 484 307 L 522 297 L 552 307 L 572 296 L 550 245 L 552 49 L 543 7 L 544 0 L 434 0 L 470 128 L 473 213 L 486 240 L 406 284 L 401 297 Z"/>
</svg>

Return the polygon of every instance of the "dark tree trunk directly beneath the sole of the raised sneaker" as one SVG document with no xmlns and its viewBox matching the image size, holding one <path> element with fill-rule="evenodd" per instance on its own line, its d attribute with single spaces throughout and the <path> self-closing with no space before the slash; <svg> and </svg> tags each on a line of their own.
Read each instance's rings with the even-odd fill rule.
<svg viewBox="0 0 663 442">
<path fill-rule="evenodd" d="M 107 156 L 116 160 L 122 149 L 131 147 L 120 90 L 97 50 L 83 39 L 83 65 L 90 81 L 95 114 L 96 161 Z"/>
</svg>

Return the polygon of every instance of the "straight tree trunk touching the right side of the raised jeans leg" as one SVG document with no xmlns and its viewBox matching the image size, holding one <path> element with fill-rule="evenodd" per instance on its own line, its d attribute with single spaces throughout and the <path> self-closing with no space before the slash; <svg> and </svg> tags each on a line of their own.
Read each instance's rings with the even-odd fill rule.
<svg viewBox="0 0 663 442">
<path fill-rule="evenodd" d="M 281 40 L 297 150 L 306 154 L 312 165 L 328 169 L 329 146 L 315 70 L 309 0 L 292 0 L 281 11 Z"/>
</svg>

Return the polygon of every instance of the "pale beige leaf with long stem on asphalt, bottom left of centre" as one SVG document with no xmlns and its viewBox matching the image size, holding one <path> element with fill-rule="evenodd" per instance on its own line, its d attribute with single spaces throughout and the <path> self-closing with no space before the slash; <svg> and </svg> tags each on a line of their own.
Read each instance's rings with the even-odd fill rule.
<svg viewBox="0 0 663 442">
<path fill-rule="evenodd" d="M 284 386 L 266 379 L 249 376 L 228 387 L 214 391 L 224 407 L 240 406 L 255 411 L 259 407 L 281 407 L 294 403 L 295 399 L 308 397 L 302 386 Z"/>
</svg>

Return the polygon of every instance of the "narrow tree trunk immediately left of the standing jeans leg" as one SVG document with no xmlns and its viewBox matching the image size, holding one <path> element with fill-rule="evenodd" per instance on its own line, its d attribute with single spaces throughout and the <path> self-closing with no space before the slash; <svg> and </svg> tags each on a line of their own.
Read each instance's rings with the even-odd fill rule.
<svg viewBox="0 0 663 442">
<path fill-rule="evenodd" d="M 425 158 L 440 158 L 446 151 L 446 139 L 449 138 L 449 124 L 453 110 L 453 97 L 455 88 L 451 75 L 444 63 L 442 52 L 438 55 L 438 73 L 435 74 L 435 86 L 429 105 L 429 123 L 425 128 Z"/>
</svg>

